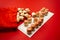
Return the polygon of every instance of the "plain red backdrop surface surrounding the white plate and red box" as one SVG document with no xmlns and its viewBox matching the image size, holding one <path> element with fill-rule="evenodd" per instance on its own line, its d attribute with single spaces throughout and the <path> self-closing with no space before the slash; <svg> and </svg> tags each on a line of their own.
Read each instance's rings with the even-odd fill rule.
<svg viewBox="0 0 60 40">
<path fill-rule="evenodd" d="M 0 32 L 0 40 L 60 40 L 59 0 L 0 0 L 0 8 L 12 7 L 28 7 L 31 11 L 37 11 L 42 7 L 46 7 L 54 13 L 54 16 L 31 38 L 17 30 L 11 32 Z"/>
</svg>

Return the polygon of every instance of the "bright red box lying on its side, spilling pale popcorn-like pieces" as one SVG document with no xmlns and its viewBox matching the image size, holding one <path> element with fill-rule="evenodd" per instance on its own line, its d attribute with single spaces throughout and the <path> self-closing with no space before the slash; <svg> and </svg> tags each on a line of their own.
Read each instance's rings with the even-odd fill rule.
<svg viewBox="0 0 60 40">
<path fill-rule="evenodd" d="M 0 27 L 16 27 L 17 8 L 0 8 Z"/>
</svg>

